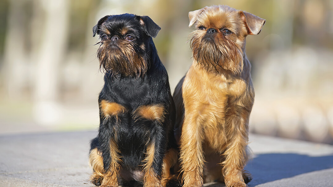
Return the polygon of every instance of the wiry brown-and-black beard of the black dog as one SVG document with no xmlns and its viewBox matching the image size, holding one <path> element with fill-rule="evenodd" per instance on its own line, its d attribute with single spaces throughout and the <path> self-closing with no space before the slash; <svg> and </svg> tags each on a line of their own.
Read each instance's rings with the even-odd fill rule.
<svg viewBox="0 0 333 187">
<path fill-rule="evenodd" d="M 102 43 L 97 51 L 100 61 L 100 70 L 111 72 L 112 75 L 125 75 L 139 77 L 148 69 L 147 58 L 134 50 L 133 44 L 119 42 L 109 45 L 109 42 Z M 120 47 L 121 46 L 121 47 Z"/>
</svg>

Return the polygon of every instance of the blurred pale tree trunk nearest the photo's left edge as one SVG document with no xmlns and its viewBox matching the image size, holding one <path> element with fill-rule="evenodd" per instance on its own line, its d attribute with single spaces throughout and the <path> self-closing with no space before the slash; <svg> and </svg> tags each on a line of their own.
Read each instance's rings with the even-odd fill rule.
<svg viewBox="0 0 333 187">
<path fill-rule="evenodd" d="M 30 17 L 26 7 L 31 2 L 26 0 L 9 1 L 6 38 L 4 43 L 4 74 L 5 89 L 12 99 L 23 97 L 24 89 L 29 85 L 26 79 L 29 56 L 26 51 L 28 37 L 27 25 Z"/>
</svg>

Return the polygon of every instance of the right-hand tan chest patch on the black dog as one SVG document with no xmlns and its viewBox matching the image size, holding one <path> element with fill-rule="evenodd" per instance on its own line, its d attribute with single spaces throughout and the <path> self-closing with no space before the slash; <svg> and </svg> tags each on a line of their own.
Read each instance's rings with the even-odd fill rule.
<svg viewBox="0 0 333 187">
<path fill-rule="evenodd" d="M 151 121 L 157 120 L 164 121 L 165 108 L 161 104 L 156 105 L 142 105 L 134 111 L 134 118 L 145 118 Z"/>
</svg>

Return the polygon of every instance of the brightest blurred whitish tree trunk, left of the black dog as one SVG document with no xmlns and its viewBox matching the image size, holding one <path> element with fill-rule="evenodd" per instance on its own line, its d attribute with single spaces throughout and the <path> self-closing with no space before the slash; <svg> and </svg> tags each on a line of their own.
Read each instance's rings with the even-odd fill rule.
<svg viewBox="0 0 333 187">
<path fill-rule="evenodd" d="M 34 117 L 41 124 L 59 123 L 59 68 L 67 49 L 69 3 L 67 0 L 36 0 L 45 12 L 41 33 L 41 44 L 36 53 Z"/>
</svg>

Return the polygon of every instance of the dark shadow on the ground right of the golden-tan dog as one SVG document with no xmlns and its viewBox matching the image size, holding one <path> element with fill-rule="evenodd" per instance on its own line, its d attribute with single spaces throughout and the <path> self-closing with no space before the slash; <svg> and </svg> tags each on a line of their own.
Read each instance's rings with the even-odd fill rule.
<svg viewBox="0 0 333 187">
<path fill-rule="evenodd" d="M 258 154 L 245 169 L 252 174 L 249 187 L 290 178 L 296 175 L 333 168 L 333 155 L 312 157 L 293 153 Z M 223 183 L 209 183 L 205 187 L 223 187 Z"/>
</svg>

